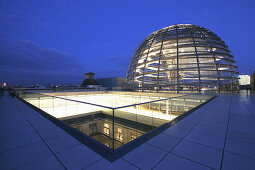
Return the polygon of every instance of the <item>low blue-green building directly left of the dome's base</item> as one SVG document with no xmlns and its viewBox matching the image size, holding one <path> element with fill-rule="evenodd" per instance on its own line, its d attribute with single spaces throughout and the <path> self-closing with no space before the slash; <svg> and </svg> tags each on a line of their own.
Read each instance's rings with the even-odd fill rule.
<svg viewBox="0 0 255 170">
<path fill-rule="evenodd" d="M 124 84 L 127 82 L 126 78 L 112 77 L 96 79 L 97 83 L 107 87 L 108 90 L 123 90 Z"/>
</svg>

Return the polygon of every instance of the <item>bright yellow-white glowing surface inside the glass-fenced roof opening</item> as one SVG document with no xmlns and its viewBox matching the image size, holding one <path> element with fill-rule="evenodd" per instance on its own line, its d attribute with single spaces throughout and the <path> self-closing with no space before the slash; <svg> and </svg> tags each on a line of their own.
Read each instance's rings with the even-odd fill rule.
<svg viewBox="0 0 255 170">
<path fill-rule="evenodd" d="M 41 94 L 40 100 L 37 98 L 26 99 L 29 103 L 39 107 L 43 111 L 51 114 L 56 118 L 65 118 L 73 115 L 79 115 L 84 113 L 91 113 L 96 111 L 109 111 L 109 108 L 118 108 L 118 111 L 124 111 L 133 114 L 139 114 L 143 116 L 149 116 L 164 120 L 172 120 L 176 116 L 170 114 L 168 110 L 158 110 L 153 109 L 154 105 L 158 102 L 151 104 L 143 104 L 137 106 L 130 106 L 139 103 L 146 103 L 151 101 L 157 101 L 162 99 L 167 99 L 170 97 L 183 96 L 177 94 L 167 94 L 165 97 L 160 97 L 159 95 L 152 94 L 152 96 L 141 93 L 44 93 Z M 161 95 L 163 96 L 163 95 Z M 70 99 L 70 100 L 64 100 Z M 75 101 L 87 102 L 80 103 Z M 162 102 L 162 101 L 161 101 Z M 167 101 L 164 101 L 165 105 L 167 105 Z M 91 105 L 96 104 L 96 105 Z"/>
</svg>

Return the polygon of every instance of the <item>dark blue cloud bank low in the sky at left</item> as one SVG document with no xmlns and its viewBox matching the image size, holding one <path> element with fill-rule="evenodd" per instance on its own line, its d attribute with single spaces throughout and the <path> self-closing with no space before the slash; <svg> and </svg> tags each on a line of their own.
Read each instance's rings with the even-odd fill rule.
<svg viewBox="0 0 255 170">
<path fill-rule="evenodd" d="M 24 80 L 32 81 L 29 75 L 54 79 L 54 75 L 82 75 L 84 68 L 74 56 L 55 49 L 40 48 L 31 41 L 15 40 L 0 32 L 0 72 L 0 81 L 14 80 L 15 76 L 20 79 L 22 75 Z M 1 80 L 3 74 L 5 80 Z"/>
</svg>

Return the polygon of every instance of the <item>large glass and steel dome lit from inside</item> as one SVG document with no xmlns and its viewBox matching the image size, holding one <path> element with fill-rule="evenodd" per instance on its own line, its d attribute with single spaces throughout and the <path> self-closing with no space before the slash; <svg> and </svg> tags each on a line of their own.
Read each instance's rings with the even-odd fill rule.
<svg viewBox="0 0 255 170">
<path fill-rule="evenodd" d="M 206 28 L 179 24 L 155 31 L 136 48 L 127 70 L 139 91 L 228 91 L 238 72 L 228 46 Z"/>
</svg>

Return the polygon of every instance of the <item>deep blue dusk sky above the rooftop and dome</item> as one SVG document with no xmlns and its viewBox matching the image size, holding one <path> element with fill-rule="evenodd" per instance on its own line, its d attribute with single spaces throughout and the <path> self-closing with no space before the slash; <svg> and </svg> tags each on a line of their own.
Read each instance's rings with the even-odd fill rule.
<svg viewBox="0 0 255 170">
<path fill-rule="evenodd" d="M 175 24 L 213 31 L 240 73 L 255 70 L 254 0 L 1 0 L 0 83 L 80 84 L 86 72 L 125 77 L 139 42 Z"/>
</svg>

